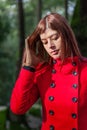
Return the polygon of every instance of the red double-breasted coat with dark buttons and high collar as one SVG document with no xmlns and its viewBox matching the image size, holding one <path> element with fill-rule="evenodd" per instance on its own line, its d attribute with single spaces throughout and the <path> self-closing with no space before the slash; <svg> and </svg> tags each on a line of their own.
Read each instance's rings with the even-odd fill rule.
<svg viewBox="0 0 87 130">
<path fill-rule="evenodd" d="M 87 130 L 87 61 L 75 57 L 40 65 L 36 72 L 21 69 L 10 107 L 23 114 L 40 97 L 41 130 Z"/>
</svg>

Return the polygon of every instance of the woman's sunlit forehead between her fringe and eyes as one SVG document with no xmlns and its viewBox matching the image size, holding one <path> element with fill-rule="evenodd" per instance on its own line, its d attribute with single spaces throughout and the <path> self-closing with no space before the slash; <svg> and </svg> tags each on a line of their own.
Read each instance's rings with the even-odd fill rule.
<svg viewBox="0 0 87 130">
<path fill-rule="evenodd" d="M 48 29 L 46 29 L 44 31 L 44 33 L 40 34 L 40 38 L 41 39 L 46 39 L 46 38 L 49 38 L 49 37 L 51 37 L 53 35 L 56 35 L 57 33 L 58 32 L 56 30 L 52 30 L 52 29 L 48 28 Z"/>
</svg>

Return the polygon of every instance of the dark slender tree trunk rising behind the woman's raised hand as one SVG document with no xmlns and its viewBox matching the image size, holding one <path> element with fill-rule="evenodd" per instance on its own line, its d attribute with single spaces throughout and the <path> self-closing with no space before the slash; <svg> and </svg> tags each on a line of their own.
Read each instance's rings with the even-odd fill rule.
<svg viewBox="0 0 87 130">
<path fill-rule="evenodd" d="M 19 60 L 17 66 L 17 74 L 19 73 L 21 64 L 22 64 L 22 56 L 23 50 L 25 46 L 25 30 L 24 30 L 24 10 L 23 10 L 23 2 L 22 0 L 17 0 L 18 2 L 18 19 L 19 19 Z"/>
</svg>

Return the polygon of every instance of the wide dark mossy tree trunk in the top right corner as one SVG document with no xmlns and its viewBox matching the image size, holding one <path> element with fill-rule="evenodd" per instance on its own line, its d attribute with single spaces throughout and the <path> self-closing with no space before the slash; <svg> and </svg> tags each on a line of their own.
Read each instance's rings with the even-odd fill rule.
<svg viewBox="0 0 87 130">
<path fill-rule="evenodd" d="M 82 54 L 84 56 L 87 56 L 87 1 L 86 0 L 77 0 L 71 26 L 74 29 L 74 32 L 76 34 Z"/>
</svg>

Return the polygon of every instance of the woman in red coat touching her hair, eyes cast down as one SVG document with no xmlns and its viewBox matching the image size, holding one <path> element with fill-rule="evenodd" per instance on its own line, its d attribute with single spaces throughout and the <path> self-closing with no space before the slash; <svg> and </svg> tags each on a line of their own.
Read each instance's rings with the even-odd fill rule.
<svg viewBox="0 0 87 130">
<path fill-rule="evenodd" d="M 87 130 L 87 60 L 64 17 L 51 13 L 26 39 L 10 108 L 24 114 L 41 98 L 41 130 Z"/>
</svg>

